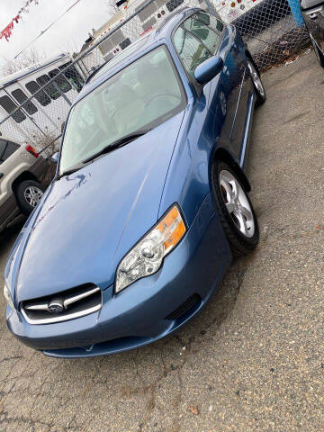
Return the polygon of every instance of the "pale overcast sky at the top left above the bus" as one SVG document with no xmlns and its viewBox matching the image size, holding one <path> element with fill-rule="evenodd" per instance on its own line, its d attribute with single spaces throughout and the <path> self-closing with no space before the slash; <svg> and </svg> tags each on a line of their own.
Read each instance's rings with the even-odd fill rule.
<svg viewBox="0 0 324 432">
<path fill-rule="evenodd" d="M 63 14 L 76 0 L 39 0 L 29 6 L 29 14 L 14 23 L 14 31 L 7 42 L 0 40 L 0 67 L 14 58 L 40 31 Z M 0 31 L 12 21 L 23 0 L 0 0 Z M 32 46 L 47 57 L 80 49 L 88 38 L 88 32 L 99 28 L 110 17 L 107 0 L 80 0 L 58 23 L 49 29 Z"/>
</svg>

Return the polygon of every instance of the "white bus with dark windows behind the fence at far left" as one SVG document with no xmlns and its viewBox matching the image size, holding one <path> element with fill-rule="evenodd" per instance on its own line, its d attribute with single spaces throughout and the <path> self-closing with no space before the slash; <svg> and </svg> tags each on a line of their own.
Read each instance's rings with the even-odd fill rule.
<svg viewBox="0 0 324 432">
<path fill-rule="evenodd" d="M 60 54 L 0 80 L 0 122 L 35 94 L 30 102 L 0 124 L 2 135 L 23 143 L 38 142 L 41 137 L 58 137 L 70 103 L 76 99 L 85 80 L 82 67 L 68 67 L 71 62 L 68 54 Z M 58 75 L 66 67 L 67 71 Z M 49 83 L 55 76 L 58 77 Z M 43 85 L 46 86 L 40 90 Z"/>
</svg>

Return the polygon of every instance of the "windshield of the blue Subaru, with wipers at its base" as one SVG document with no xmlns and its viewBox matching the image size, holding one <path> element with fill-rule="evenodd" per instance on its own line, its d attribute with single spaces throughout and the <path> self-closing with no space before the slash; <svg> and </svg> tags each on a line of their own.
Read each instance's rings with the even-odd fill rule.
<svg viewBox="0 0 324 432">
<path fill-rule="evenodd" d="M 156 128 L 183 110 L 184 103 L 166 47 L 148 52 L 76 103 L 67 121 L 59 174 L 116 140 Z"/>
</svg>

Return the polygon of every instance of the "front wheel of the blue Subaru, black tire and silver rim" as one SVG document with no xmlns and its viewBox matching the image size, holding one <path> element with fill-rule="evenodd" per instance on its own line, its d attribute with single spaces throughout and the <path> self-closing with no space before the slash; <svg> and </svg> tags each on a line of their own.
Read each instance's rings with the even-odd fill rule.
<svg viewBox="0 0 324 432">
<path fill-rule="evenodd" d="M 252 252 L 259 242 L 257 216 L 235 171 L 222 161 L 211 170 L 212 187 L 220 223 L 235 257 Z"/>
</svg>

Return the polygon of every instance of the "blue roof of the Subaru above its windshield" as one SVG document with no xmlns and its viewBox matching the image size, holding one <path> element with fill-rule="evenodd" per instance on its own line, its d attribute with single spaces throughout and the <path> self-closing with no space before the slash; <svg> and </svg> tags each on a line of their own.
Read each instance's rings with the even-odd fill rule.
<svg viewBox="0 0 324 432">
<path fill-rule="evenodd" d="M 79 100 L 83 99 L 87 94 L 94 91 L 96 87 L 102 85 L 104 81 L 106 81 L 109 77 L 115 75 L 124 67 L 127 67 L 135 61 L 137 58 L 140 58 L 143 53 L 148 52 L 151 49 L 154 49 L 157 45 L 166 42 L 166 40 L 171 39 L 172 31 L 175 29 L 176 25 L 180 23 L 186 16 L 193 14 L 194 12 L 202 11 L 201 8 L 198 7 L 184 7 L 180 11 L 175 11 L 172 14 L 166 16 L 166 19 L 159 23 L 156 29 L 149 33 L 149 35 L 145 35 L 139 40 L 144 40 L 143 44 L 139 46 L 139 49 L 134 51 L 130 50 L 130 55 L 121 58 L 121 61 L 116 63 L 114 66 L 109 67 L 109 62 L 107 63 L 107 69 L 102 67 L 100 71 L 98 71 L 98 75 L 93 76 L 88 84 L 85 84 L 84 88 L 76 98 L 76 101 L 73 103 L 75 105 Z M 136 40 L 133 43 L 137 43 L 139 40 Z M 130 45 L 131 47 L 131 45 Z M 121 51 L 122 55 L 124 51 Z M 116 56 L 117 59 L 119 56 Z"/>
</svg>

